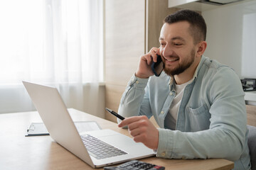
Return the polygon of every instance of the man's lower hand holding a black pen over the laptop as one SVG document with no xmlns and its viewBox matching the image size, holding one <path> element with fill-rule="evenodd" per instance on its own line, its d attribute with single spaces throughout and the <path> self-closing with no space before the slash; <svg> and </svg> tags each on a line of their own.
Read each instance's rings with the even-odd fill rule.
<svg viewBox="0 0 256 170">
<path fill-rule="evenodd" d="M 135 142 L 142 142 L 146 147 L 157 149 L 159 131 L 145 115 L 125 118 L 119 123 L 118 127 L 122 128 L 126 125 Z"/>
</svg>

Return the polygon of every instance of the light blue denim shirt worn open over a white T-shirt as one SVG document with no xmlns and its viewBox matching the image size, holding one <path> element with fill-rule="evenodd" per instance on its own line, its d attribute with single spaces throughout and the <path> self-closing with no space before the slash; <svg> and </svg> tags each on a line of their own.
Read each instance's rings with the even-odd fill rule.
<svg viewBox="0 0 256 170">
<path fill-rule="evenodd" d="M 133 76 L 122 95 L 119 114 L 154 116 L 159 125 L 157 157 L 224 158 L 235 169 L 250 169 L 244 92 L 233 69 L 202 56 L 193 80 L 183 92 L 176 130 L 164 129 L 176 95 L 174 79 Z"/>
</svg>

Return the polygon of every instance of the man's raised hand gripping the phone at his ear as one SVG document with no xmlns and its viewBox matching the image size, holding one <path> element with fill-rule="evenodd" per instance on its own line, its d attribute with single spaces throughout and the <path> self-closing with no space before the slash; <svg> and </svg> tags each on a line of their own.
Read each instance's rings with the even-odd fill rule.
<svg viewBox="0 0 256 170">
<path fill-rule="evenodd" d="M 141 79 L 147 79 L 154 75 L 153 71 L 151 70 L 151 64 L 156 62 L 157 55 L 160 55 L 159 48 L 152 47 L 151 50 L 146 53 L 146 55 L 142 55 L 139 60 L 139 66 L 135 73 L 136 77 Z"/>
</svg>

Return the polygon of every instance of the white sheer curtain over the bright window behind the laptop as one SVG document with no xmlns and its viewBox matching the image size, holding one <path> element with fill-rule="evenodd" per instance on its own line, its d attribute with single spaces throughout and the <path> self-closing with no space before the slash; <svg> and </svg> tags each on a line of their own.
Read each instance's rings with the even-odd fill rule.
<svg viewBox="0 0 256 170">
<path fill-rule="evenodd" d="M 0 0 L 0 113 L 33 109 L 22 80 L 97 112 L 88 98 L 103 81 L 102 13 L 102 0 Z"/>
</svg>

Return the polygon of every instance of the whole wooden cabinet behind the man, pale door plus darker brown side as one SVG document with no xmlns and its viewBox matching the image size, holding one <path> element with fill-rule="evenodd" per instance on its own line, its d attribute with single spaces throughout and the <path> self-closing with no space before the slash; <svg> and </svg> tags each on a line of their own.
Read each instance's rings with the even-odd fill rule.
<svg viewBox="0 0 256 170">
<path fill-rule="evenodd" d="M 164 18 L 176 8 L 168 0 L 105 1 L 105 106 L 118 111 L 127 82 L 136 72 L 139 57 L 159 47 Z M 110 113 L 107 120 L 117 121 Z"/>
</svg>

